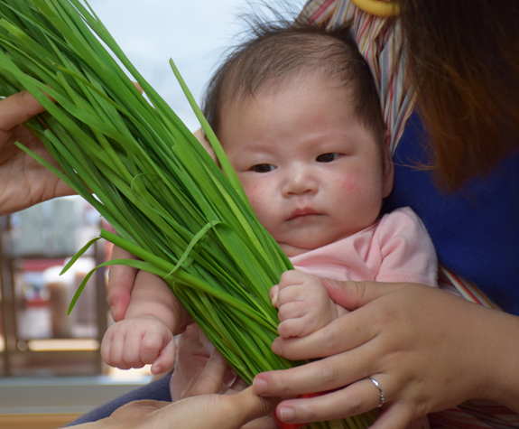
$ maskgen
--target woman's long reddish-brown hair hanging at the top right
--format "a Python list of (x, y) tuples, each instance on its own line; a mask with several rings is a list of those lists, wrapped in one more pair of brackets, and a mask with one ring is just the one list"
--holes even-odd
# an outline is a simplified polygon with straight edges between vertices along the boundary
[(519, 0), (396, 0), (440, 185), (519, 149)]

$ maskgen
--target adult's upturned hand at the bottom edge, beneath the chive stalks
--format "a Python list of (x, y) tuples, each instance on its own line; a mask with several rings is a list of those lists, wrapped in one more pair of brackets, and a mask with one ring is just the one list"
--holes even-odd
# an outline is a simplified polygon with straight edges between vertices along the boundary
[[(270, 429), (262, 423), (270, 415), (277, 400), (256, 396), (252, 387), (228, 395), (216, 395), (221, 388), (227, 362), (213, 353), (208, 366), (191, 387), (189, 397), (174, 404), (158, 401), (136, 401), (118, 408), (109, 417), (80, 429)], [(233, 394), (231, 394), (233, 393)], [(263, 422), (264, 423), (264, 422)]]

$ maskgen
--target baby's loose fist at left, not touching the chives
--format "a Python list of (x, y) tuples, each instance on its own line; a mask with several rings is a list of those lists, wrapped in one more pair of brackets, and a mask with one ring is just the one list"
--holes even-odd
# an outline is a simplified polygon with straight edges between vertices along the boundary
[(111, 367), (121, 369), (153, 364), (152, 374), (160, 374), (175, 362), (175, 340), (168, 327), (154, 316), (125, 319), (108, 329), (101, 357)]

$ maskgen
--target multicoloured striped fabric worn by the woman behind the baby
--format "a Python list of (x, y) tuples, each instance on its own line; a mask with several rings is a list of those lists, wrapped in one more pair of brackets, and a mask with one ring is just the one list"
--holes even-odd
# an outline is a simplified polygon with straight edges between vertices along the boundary
[[(402, 32), (394, 17), (367, 14), (350, 0), (309, 0), (299, 19), (305, 23), (317, 23), (333, 29), (347, 22), (359, 51), (366, 58), (380, 95), (385, 125), (391, 133), (392, 154), (403, 135), (405, 122), (414, 107), (412, 87), (405, 70)], [(474, 284), (440, 266), (440, 288), (458, 293), (468, 301), (502, 311)], [(440, 413), (429, 415), (431, 427), (452, 429), (519, 428), (519, 415), (495, 403), (472, 400)]]

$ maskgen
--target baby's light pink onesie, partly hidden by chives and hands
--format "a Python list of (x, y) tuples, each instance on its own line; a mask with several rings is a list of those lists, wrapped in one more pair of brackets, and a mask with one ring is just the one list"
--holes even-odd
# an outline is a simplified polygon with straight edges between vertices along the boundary
[[(409, 208), (394, 210), (374, 225), (327, 246), (291, 258), (303, 273), (336, 280), (376, 280), (436, 286), (436, 252), (427, 230)], [(175, 402), (205, 368), (214, 346), (196, 324), (181, 334), (171, 377)], [(228, 381), (234, 376), (228, 374)]]

